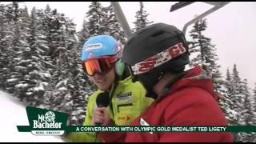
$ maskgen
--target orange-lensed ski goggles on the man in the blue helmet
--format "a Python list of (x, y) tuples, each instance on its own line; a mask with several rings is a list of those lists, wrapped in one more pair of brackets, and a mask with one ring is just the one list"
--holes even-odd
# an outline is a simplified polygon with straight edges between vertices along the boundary
[(114, 55), (102, 58), (92, 58), (82, 62), (82, 69), (89, 76), (94, 76), (96, 73), (106, 74), (113, 68), (115, 61), (116, 57)]

